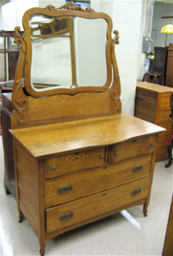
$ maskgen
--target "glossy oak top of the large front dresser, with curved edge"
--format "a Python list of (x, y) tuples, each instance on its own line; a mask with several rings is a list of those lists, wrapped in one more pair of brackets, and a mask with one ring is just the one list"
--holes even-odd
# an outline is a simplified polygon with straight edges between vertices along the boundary
[(164, 130), (136, 117), (117, 114), (10, 131), (32, 156), (42, 159), (155, 135)]

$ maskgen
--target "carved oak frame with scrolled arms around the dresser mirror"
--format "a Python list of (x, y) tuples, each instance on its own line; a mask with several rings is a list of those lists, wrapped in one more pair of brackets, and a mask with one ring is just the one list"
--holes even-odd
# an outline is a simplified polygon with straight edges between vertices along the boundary
[[(105, 19), (108, 22), (108, 30), (106, 33), (106, 66), (107, 66), (107, 80), (103, 86), (100, 87), (76, 87), (72, 89), (68, 88), (55, 88), (50, 90), (36, 91), (31, 86), (31, 58), (32, 58), (32, 44), (31, 44), (31, 28), (29, 25), (30, 19), (36, 15), (46, 15), (47, 17), (81, 17), (86, 19)], [(20, 27), (14, 29), (15, 43), (20, 43), (20, 58), (17, 67), (17, 73), (15, 75), (14, 84), (21, 84), (22, 73), (24, 70), (24, 89), (27, 93), (33, 97), (45, 97), (59, 94), (75, 95), (79, 92), (102, 92), (107, 89), (114, 87), (115, 89), (120, 88), (119, 74), (117, 61), (114, 53), (114, 44), (119, 44), (118, 31), (114, 30), (113, 33), (116, 35), (112, 38), (112, 20), (108, 14), (102, 12), (94, 12), (93, 9), (83, 10), (73, 2), (65, 4), (59, 8), (55, 8), (53, 5), (48, 5), (46, 8), (33, 7), (26, 11), (23, 15), (22, 24), (24, 28), (23, 37), (20, 36)], [(112, 68), (113, 67), (113, 68)], [(20, 72), (19, 72), (20, 70)], [(22, 72), (21, 72), (22, 71)], [(120, 90), (120, 89), (119, 89)]]

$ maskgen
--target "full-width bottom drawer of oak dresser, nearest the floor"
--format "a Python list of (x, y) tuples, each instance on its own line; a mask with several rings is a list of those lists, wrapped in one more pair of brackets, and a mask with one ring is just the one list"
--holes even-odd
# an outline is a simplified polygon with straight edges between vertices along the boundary
[(150, 177), (46, 209), (47, 233), (94, 218), (149, 196)]

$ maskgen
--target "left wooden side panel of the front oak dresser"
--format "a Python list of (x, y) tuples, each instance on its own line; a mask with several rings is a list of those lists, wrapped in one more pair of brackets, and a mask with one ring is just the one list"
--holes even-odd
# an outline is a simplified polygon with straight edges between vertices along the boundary
[(31, 227), (38, 235), (39, 197), (37, 191), (37, 161), (16, 139), (14, 141), (14, 149), (19, 210), (26, 217)]

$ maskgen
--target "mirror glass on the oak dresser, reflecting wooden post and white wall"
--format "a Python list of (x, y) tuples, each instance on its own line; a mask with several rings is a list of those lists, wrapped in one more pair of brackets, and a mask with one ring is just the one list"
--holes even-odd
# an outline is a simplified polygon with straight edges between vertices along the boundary
[(32, 17), (30, 26), (34, 90), (104, 86), (106, 20), (40, 15)]

